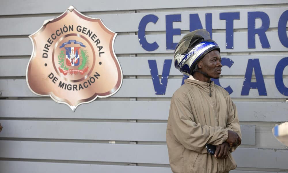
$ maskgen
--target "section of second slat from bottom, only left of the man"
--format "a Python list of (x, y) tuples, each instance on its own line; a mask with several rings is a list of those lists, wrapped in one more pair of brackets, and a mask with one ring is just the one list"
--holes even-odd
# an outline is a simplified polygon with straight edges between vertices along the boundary
[(169, 164), (166, 145), (0, 141), (0, 157)]

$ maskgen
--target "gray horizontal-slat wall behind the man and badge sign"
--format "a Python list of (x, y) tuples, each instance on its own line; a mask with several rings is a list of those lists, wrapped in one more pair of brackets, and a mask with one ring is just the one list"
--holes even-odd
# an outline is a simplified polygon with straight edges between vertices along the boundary
[[(75, 112), (50, 97), (34, 95), (27, 87), (25, 73), (32, 44), (28, 35), (44, 20), (59, 16), (69, 5), (84, 14), (101, 18), (118, 33), (115, 53), (124, 80), (109, 98), (80, 105)], [(170, 99), (181, 86), (182, 75), (171, 65), (165, 95), (156, 95), (147, 60), (156, 60), (161, 77), (166, 50), (168, 14), (181, 14), (181, 36), (189, 32), (189, 14), (199, 14), (205, 28), (205, 13), (212, 13), (213, 40), (221, 56), (234, 61), (223, 67), (220, 83), (231, 86), (243, 135), (233, 156), (237, 169), (231, 172), (287, 172), (288, 148), (272, 134), (275, 124), (288, 121), (288, 96), (274, 81), (277, 63), (288, 49), (278, 39), (278, 20), (288, 10), (287, 1), (1, 1), (0, 6), (0, 172), (157, 172), (170, 173), (165, 133)], [(247, 13), (265, 12), (270, 19), (266, 31), (270, 49), (255, 36), (255, 49), (248, 48)], [(240, 12), (234, 20), (234, 48), (226, 49), (225, 20), (219, 13)], [(138, 40), (140, 20), (147, 14), (159, 19), (146, 27), (148, 42), (155, 51), (144, 50)], [(256, 27), (261, 21), (256, 20)], [(174, 36), (174, 42), (180, 40)], [(259, 59), (266, 96), (257, 89), (241, 95), (249, 59)], [(253, 74), (252, 80), (255, 80)], [(288, 68), (283, 71), (288, 86)]]

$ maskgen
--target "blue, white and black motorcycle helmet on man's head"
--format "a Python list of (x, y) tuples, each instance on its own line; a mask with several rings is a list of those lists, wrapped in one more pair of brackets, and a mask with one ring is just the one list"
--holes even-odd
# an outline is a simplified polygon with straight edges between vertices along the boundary
[(220, 48), (217, 43), (210, 39), (209, 32), (198, 29), (186, 34), (177, 44), (174, 52), (174, 65), (181, 73), (189, 76), (200, 59), (211, 50)]

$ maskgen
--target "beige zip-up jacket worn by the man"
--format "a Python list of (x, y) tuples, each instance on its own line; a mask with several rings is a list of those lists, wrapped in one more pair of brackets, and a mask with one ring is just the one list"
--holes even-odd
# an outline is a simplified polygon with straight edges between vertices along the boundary
[[(228, 129), (241, 137), (236, 106), (229, 93), (214, 82), (185, 80), (171, 99), (166, 131), (172, 171), (221, 173), (235, 169), (237, 165), (231, 153), (227, 159), (216, 159), (205, 148), (207, 143), (225, 142)], [(230, 148), (230, 152), (235, 149)]]

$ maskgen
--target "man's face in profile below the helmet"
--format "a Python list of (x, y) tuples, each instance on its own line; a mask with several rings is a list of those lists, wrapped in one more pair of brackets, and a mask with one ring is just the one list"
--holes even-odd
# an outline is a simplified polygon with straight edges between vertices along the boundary
[(199, 70), (205, 72), (211, 78), (218, 79), (221, 74), (221, 56), (218, 50), (207, 53), (199, 62)]

